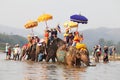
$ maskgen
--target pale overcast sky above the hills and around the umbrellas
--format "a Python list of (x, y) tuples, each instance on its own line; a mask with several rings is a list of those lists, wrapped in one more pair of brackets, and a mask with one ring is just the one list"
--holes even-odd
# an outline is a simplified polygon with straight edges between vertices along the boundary
[[(50, 28), (69, 21), (73, 14), (88, 18), (88, 24), (79, 24), (79, 30), (99, 27), (120, 28), (120, 0), (0, 0), (0, 25), (24, 28), (29, 20), (37, 20), (43, 13), (53, 16), (47, 21)], [(34, 31), (42, 32), (45, 23)]]

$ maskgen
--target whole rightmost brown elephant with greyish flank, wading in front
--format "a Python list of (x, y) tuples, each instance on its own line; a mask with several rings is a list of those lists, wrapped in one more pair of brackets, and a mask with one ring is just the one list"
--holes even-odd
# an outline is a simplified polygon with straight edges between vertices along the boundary
[(58, 62), (67, 64), (68, 66), (81, 66), (81, 62), (89, 66), (89, 53), (87, 49), (79, 50), (74, 46), (68, 47), (68, 51), (61, 49), (57, 50)]

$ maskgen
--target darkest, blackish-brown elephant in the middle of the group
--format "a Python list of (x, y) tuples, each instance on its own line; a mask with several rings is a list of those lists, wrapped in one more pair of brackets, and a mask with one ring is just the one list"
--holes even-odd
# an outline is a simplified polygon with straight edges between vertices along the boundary
[(46, 48), (46, 52), (47, 52), (46, 62), (49, 62), (50, 59), (52, 59), (52, 62), (56, 62), (55, 59), (56, 59), (57, 49), (64, 44), (65, 42), (60, 38), (55, 38), (53, 42), (48, 41), (48, 45)]

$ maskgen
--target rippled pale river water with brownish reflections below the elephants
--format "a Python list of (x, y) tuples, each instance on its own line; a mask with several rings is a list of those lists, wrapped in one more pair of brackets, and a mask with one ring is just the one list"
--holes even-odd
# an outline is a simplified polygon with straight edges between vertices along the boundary
[(99, 63), (92, 67), (5, 60), (0, 53), (0, 80), (120, 80), (120, 62)]

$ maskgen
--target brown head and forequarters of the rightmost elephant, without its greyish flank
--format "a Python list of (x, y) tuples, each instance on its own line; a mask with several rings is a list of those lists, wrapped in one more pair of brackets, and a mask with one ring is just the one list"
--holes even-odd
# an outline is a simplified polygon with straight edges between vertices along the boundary
[(89, 66), (89, 53), (87, 49), (77, 49), (74, 46), (70, 46), (66, 53), (66, 63), (72, 66), (80, 66), (81, 61)]

